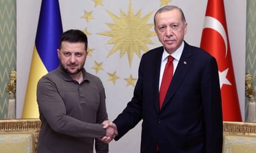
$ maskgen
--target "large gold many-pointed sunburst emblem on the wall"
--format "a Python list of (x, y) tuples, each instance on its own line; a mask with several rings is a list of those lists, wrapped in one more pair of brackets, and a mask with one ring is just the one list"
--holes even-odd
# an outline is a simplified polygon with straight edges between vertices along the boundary
[(128, 15), (120, 10), (120, 18), (115, 14), (110, 14), (115, 24), (106, 23), (111, 31), (97, 33), (99, 35), (112, 37), (106, 44), (115, 44), (108, 53), (107, 58), (120, 50), (120, 59), (127, 53), (129, 66), (132, 65), (133, 53), (141, 58), (140, 50), (147, 52), (149, 48), (146, 44), (155, 44), (149, 37), (156, 36), (150, 29), (154, 24), (147, 24), (153, 11), (141, 18), (141, 10), (134, 15), (132, 2), (130, 1)]

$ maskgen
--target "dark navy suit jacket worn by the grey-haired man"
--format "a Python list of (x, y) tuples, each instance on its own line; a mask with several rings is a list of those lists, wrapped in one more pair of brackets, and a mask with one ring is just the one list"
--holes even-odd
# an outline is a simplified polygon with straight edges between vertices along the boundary
[(217, 63), (185, 42), (181, 59), (159, 110), (163, 47), (141, 57), (132, 100), (113, 121), (121, 138), (141, 119), (141, 153), (222, 152), (222, 110)]

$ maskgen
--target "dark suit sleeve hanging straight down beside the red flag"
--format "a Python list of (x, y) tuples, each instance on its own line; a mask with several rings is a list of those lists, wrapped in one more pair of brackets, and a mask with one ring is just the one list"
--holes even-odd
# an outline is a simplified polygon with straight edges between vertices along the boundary
[(201, 81), (201, 97), (205, 121), (206, 152), (222, 152), (222, 108), (217, 63), (211, 58)]

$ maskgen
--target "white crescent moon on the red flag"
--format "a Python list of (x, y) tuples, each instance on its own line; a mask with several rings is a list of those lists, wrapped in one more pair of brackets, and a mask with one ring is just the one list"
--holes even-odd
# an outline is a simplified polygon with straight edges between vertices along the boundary
[(225, 57), (226, 57), (227, 56), (227, 35), (221, 22), (211, 16), (205, 16), (203, 29), (205, 28), (210, 28), (220, 33), (220, 35), (222, 36), (225, 42), (225, 46), (226, 46)]

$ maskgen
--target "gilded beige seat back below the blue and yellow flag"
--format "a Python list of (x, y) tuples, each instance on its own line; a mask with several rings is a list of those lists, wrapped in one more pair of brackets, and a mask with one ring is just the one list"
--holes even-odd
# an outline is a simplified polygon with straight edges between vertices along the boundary
[(0, 120), (0, 152), (36, 152), (40, 126), (39, 119)]

